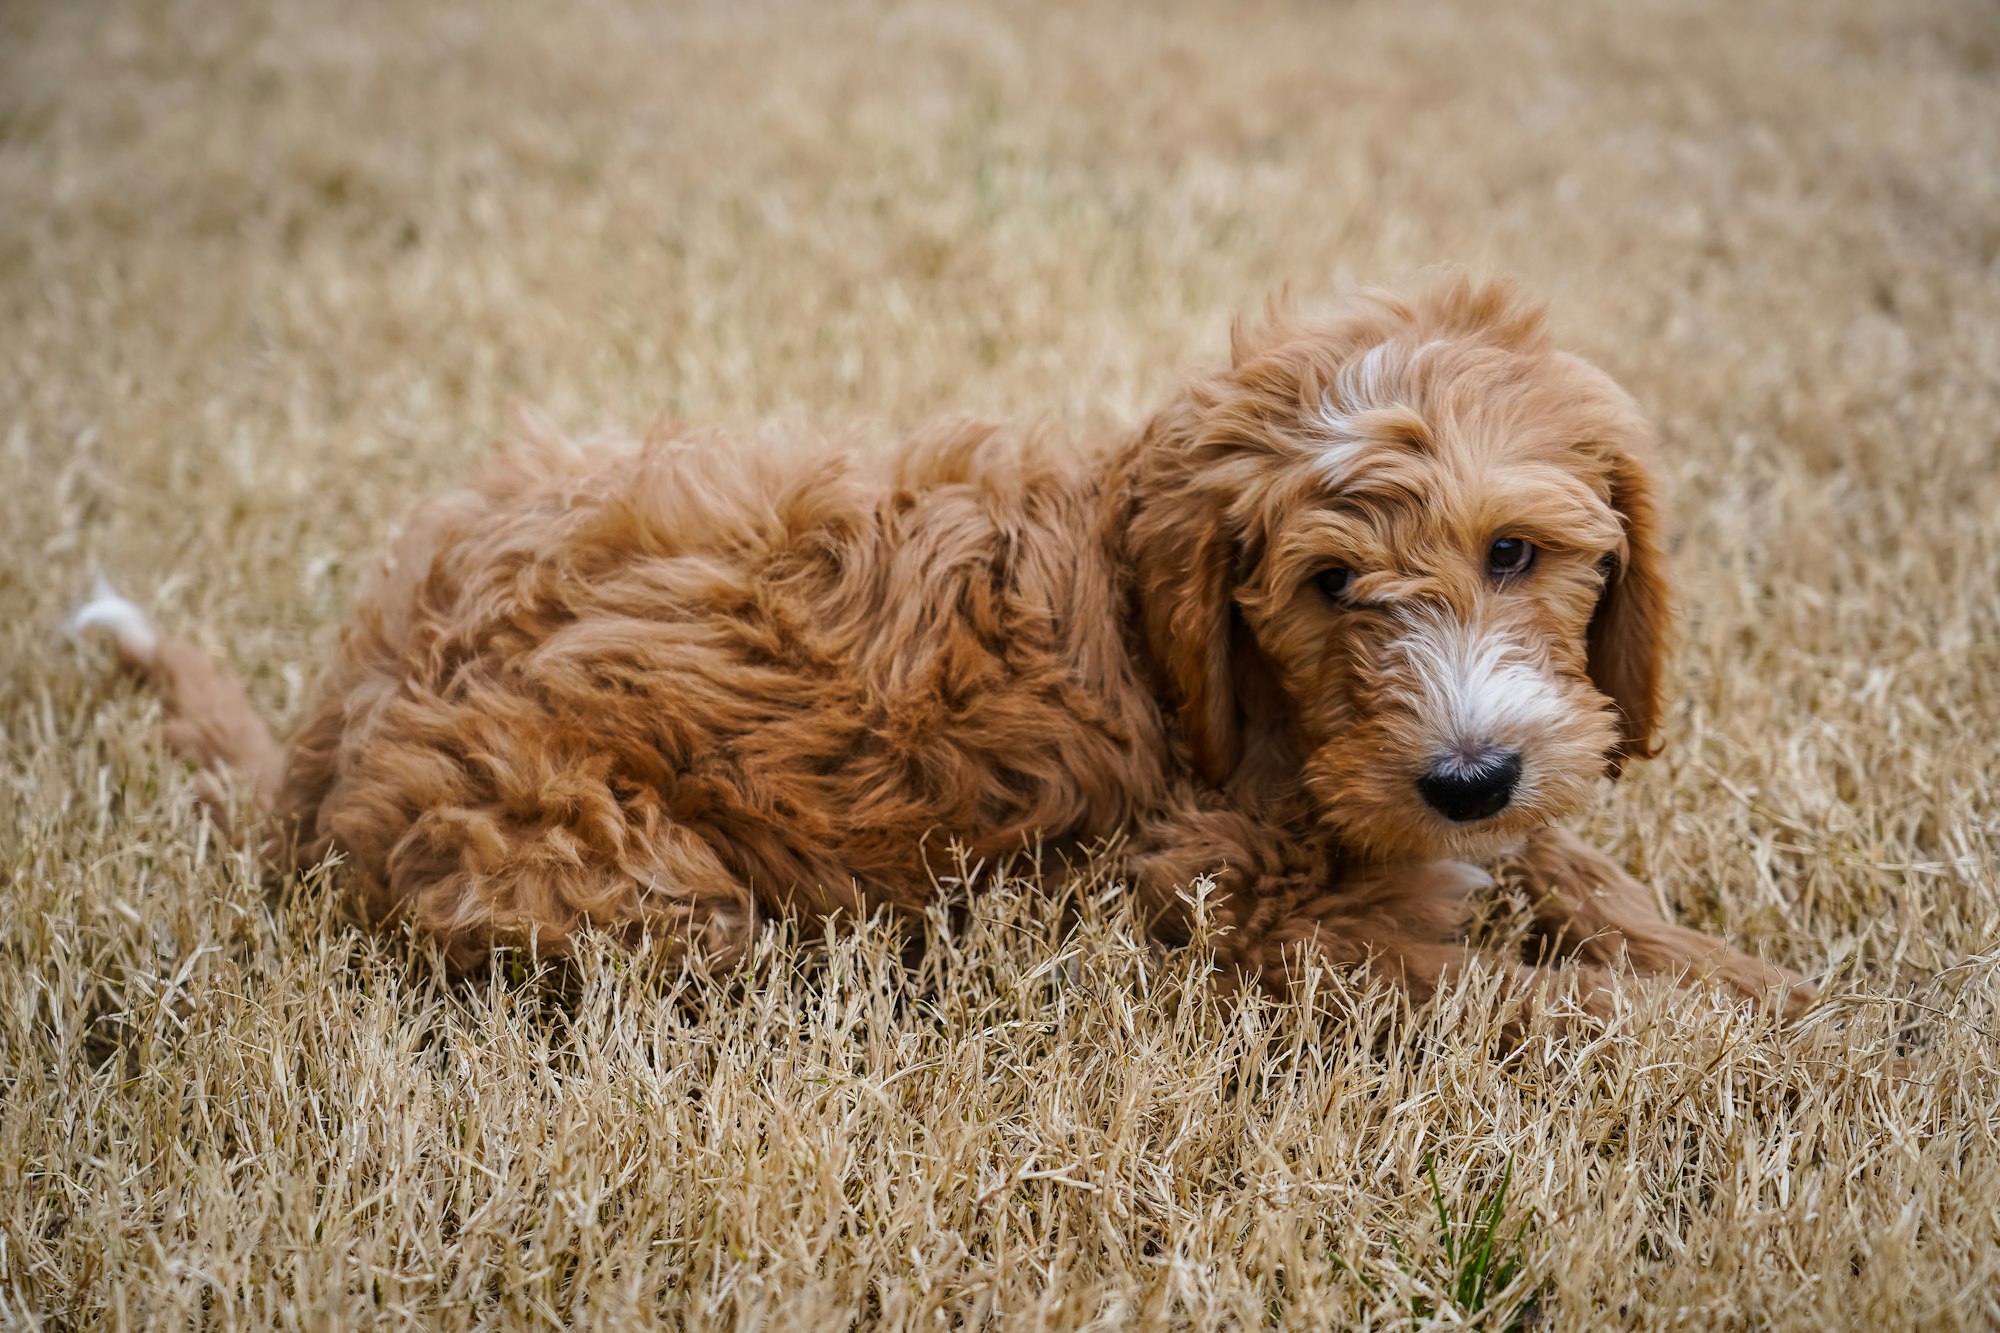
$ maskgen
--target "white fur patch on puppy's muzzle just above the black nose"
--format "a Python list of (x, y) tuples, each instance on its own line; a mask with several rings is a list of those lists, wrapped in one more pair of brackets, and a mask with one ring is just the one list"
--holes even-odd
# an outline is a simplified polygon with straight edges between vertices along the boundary
[(1480, 634), (1438, 612), (1414, 614), (1396, 650), (1434, 719), (1438, 747), (1522, 743), (1562, 711), (1554, 681), (1500, 634)]

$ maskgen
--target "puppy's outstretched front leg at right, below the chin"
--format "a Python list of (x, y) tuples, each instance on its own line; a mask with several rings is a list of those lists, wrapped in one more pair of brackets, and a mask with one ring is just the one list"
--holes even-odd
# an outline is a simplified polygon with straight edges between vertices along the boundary
[(1558, 955), (1718, 985), (1760, 1003), (1776, 999), (1786, 1019), (1814, 1001), (1798, 973), (1668, 921), (1652, 891), (1568, 829), (1530, 837), (1518, 867), (1536, 933)]

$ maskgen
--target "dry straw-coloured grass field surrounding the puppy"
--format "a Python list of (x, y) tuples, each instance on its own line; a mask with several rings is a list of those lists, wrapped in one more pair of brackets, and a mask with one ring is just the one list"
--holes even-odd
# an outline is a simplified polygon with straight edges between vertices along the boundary
[[(60, 634), (104, 570), (288, 721), (518, 410), (1110, 430), (1436, 260), (1662, 426), (1668, 749), (1586, 823), (1796, 1031), (1226, 1009), (1030, 865), (914, 965), (452, 987)], [(0, 532), (0, 1325), (2000, 1323), (1990, 4), (6, 0)]]

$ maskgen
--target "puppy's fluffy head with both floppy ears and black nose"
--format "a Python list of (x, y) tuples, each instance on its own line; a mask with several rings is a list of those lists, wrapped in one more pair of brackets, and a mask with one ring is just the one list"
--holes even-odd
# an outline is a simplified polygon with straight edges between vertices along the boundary
[(1482, 855), (1654, 753), (1650, 430), (1462, 276), (1238, 326), (1134, 454), (1144, 636), (1194, 763), (1358, 853)]

